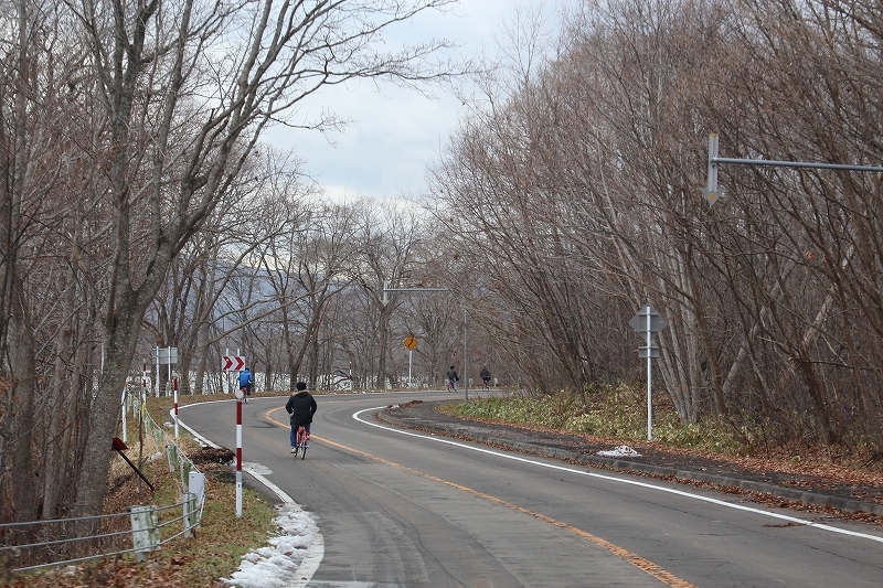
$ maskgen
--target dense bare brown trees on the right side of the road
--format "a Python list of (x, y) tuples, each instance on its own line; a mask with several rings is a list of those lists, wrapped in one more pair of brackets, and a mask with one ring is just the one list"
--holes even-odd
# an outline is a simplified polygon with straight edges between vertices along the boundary
[(522, 41), (483, 79), (434, 196), (528, 379), (634, 378), (650, 302), (683, 423), (881, 455), (880, 174), (721, 165), (723, 199), (701, 191), (712, 132), (728, 158), (881, 164), (881, 8), (586, 2), (553, 60)]

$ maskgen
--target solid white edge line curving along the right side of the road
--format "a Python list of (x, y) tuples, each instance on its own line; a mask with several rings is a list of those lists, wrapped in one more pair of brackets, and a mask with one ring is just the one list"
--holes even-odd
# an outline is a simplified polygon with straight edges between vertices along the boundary
[(737, 511), (746, 511), (746, 512), (749, 512), (749, 513), (760, 514), (760, 515), (764, 515), (764, 516), (769, 516), (769, 517), (778, 518), (778, 520), (781, 520), (781, 521), (788, 521), (788, 522), (791, 522), (791, 523), (798, 523), (798, 524), (801, 524), (801, 525), (816, 527), (816, 528), (819, 528), (819, 530), (822, 530), (822, 531), (828, 531), (828, 532), (831, 532), (831, 533), (840, 533), (842, 535), (850, 535), (852, 537), (860, 537), (860, 538), (863, 538), (863, 539), (871, 539), (871, 541), (875, 541), (875, 542), (879, 542), (879, 543), (883, 543), (883, 537), (879, 537), (876, 535), (869, 535), (866, 533), (858, 533), (855, 531), (849, 531), (849, 530), (845, 530), (845, 528), (838, 528), (838, 527), (831, 526), (831, 525), (823, 525), (821, 523), (813, 523), (812, 521), (806, 521), (804, 518), (798, 518), (796, 516), (790, 516), (790, 515), (787, 515), (787, 514), (779, 514), (779, 513), (774, 513), (774, 512), (769, 512), (769, 511), (762, 511), (760, 509), (754, 509), (752, 506), (745, 506), (743, 504), (734, 504), (732, 502), (726, 502), (726, 501), (723, 501), (723, 500), (712, 499), (710, 496), (702, 496), (700, 494), (693, 494), (691, 492), (684, 492), (683, 490), (677, 490), (677, 489), (673, 489), (673, 488), (664, 488), (664, 487), (661, 487), (661, 485), (650, 484), (650, 483), (647, 483), (647, 482), (640, 482), (638, 480), (626, 480), (626, 479), (620, 479), (620, 478), (614, 478), (611, 475), (604, 475), (602, 473), (594, 473), (594, 472), (588, 472), (588, 471), (576, 470), (574, 468), (568, 468), (568, 467), (565, 467), (565, 466), (556, 466), (554, 463), (543, 463), (541, 461), (535, 461), (535, 460), (528, 459), (528, 458), (522, 458), (522, 457), (519, 457), (519, 456), (512, 456), (512, 455), (509, 455), (509, 453), (501, 453), (501, 452), (494, 451), (492, 449), (485, 449), (482, 447), (472, 447), (472, 446), (468, 446), (468, 445), (465, 445), (465, 443), (459, 443), (457, 441), (451, 441), (450, 439), (445, 439), (445, 438), (442, 438), (442, 437), (432, 437), (432, 436), (427, 436), (427, 435), (421, 435), (418, 432), (412, 432), (412, 431), (402, 430), (402, 429), (394, 429), (392, 427), (386, 427), (386, 426), (380, 425), (377, 423), (371, 423), (369, 420), (364, 420), (363, 418), (360, 417), (360, 415), (362, 415), (363, 413), (370, 413), (370, 411), (373, 411), (373, 410), (382, 410), (384, 408), (386, 408), (386, 406), (377, 406), (375, 408), (365, 408), (364, 410), (359, 410), (358, 413), (353, 413), (352, 418), (354, 418), (355, 420), (358, 420), (359, 423), (362, 423), (364, 425), (370, 425), (370, 426), (376, 427), (379, 429), (384, 429), (384, 430), (397, 432), (400, 435), (409, 435), (412, 437), (419, 437), (421, 439), (428, 439), (430, 441), (436, 441), (436, 442), (445, 443), (445, 445), (451, 445), (451, 446), (459, 447), (459, 448), (462, 448), (462, 449), (468, 449), (470, 451), (478, 451), (478, 452), (481, 452), (481, 453), (489, 453), (491, 456), (497, 456), (497, 457), (500, 457), (500, 458), (503, 458), (503, 459), (511, 459), (513, 461), (521, 461), (523, 463), (531, 463), (533, 466), (540, 466), (541, 468), (549, 468), (551, 470), (565, 471), (565, 472), (575, 473), (575, 474), (578, 474), (578, 475), (587, 475), (589, 478), (597, 478), (599, 480), (607, 480), (607, 481), (610, 481), (610, 482), (618, 482), (618, 483), (623, 483), (623, 484), (637, 485), (637, 487), (640, 487), (640, 488), (646, 488), (646, 489), (649, 489), (649, 490), (656, 490), (656, 491), (659, 491), (659, 492), (668, 492), (669, 494), (677, 494), (679, 496), (684, 496), (684, 498), (688, 498), (688, 499), (700, 500), (700, 501), (703, 501), (703, 502), (709, 502), (709, 503), (712, 503), (712, 504), (716, 504), (719, 506), (725, 506), (727, 509), (735, 509)]

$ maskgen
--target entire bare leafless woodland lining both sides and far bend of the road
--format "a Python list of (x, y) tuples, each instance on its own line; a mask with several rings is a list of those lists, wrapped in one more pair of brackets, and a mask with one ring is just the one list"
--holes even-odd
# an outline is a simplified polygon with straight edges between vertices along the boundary
[(323, 85), (456, 73), (374, 43), (447, 3), (0, 2), (0, 521), (100, 510), (157, 346), (183, 394), (224, 391), (226, 350), (276, 391), (432, 386), (466, 353), (589, 405), (642, 381), (647, 303), (682, 423), (883, 456), (881, 175), (722, 164), (702, 194), (712, 132), (883, 163), (883, 6), (585, 0), (555, 38), (522, 14), (418, 202), (330, 201), (260, 142), (338, 126), (286, 119)]

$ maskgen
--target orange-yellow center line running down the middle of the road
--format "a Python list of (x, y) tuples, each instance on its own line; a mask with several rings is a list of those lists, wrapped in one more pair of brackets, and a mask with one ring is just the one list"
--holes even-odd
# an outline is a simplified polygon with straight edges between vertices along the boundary
[[(268, 420), (270, 420), (272, 423), (275, 423), (276, 425), (279, 425), (280, 427), (286, 427), (287, 425), (285, 425), (283, 423), (279, 423), (278, 420), (275, 420), (274, 418), (272, 418), (269, 416), (269, 414), (273, 413), (274, 410), (277, 410), (277, 409), (268, 410), (264, 416)], [(554, 526), (556, 526), (558, 528), (562, 528), (564, 531), (573, 533), (574, 535), (576, 535), (578, 537), (583, 537), (584, 539), (589, 541), (589, 542), (594, 543), (595, 545), (597, 545), (599, 547), (604, 547), (605, 549), (607, 549), (611, 554), (620, 557), (621, 559), (628, 562), (629, 564), (631, 564), (635, 567), (637, 567), (638, 569), (640, 569), (642, 571), (646, 571), (650, 576), (655, 577), (656, 579), (660, 580), (661, 582), (666, 584), (667, 586), (671, 586), (672, 588), (696, 588), (695, 586), (693, 586), (689, 581), (679, 578), (674, 574), (671, 574), (670, 571), (668, 571), (664, 568), (658, 566), (657, 564), (653, 564), (649, 559), (646, 559), (646, 558), (643, 558), (643, 557), (641, 557), (641, 556), (639, 556), (637, 554), (632, 554), (628, 549), (619, 547), (618, 545), (615, 545), (615, 544), (608, 542), (607, 539), (603, 539), (603, 538), (598, 537), (597, 535), (593, 535), (592, 533), (583, 531), (582, 528), (577, 528), (577, 527), (575, 527), (573, 525), (568, 525), (567, 523), (564, 523), (564, 522), (558, 521), (556, 518), (552, 518), (551, 516), (546, 516), (544, 514), (541, 514), (541, 513), (538, 513), (538, 512), (534, 512), (534, 511), (530, 511), (528, 509), (524, 509), (523, 506), (519, 506), (518, 504), (512, 504), (511, 502), (507, 502), (507, 501), (504, 501), (502, 499), (499, 499), (497, 496), (492, 496), (490, 494), (486, 494), (483, 492), (479, 492), (478, 490), (471, 489), (469, 487), (465, 487), (465, 485), (458, 484), (456, 482), (450, 482), (448, 480), (443, 480), (442, 478), (436, 478), (435, 475), (428, 474), (426, 472), (422, 472), (419, 470), (415, 470), (413, 468), (408, 468), (407, 466), (402, 466), (401, 463), (396, 463), (394, 461), (389, 461), (386, 459), (380, 458), (377, 456), (373, 456), (371, 453), (366, 453), (366, 452), (361, 451), (359, 449), (355, 449), (355, 448), (352, 448), (352, 447), (348, 447), (348, 446), (342, 445), (342, 443), (338, 443), (337, 441), (331, 441), (330, 439), (323, 439), (323, 438), (317, 437), (317, 436), (311, 436), (310, 439), (315, 440), (315, 441), (321, 441), (323, 443), (330, 445), (332, 447), (337, 447), (338, 449), (342, 449), (342, 450), (349, 451), (351, 453), (357, 453), (359, 456), (362, 456), (362, 457), (368, 458), (368, 459), (372, 459), (372, 460), (377, 461), (380, 463), (383, 463), (385, 466), (390, 466), (392, 468), (396, 468), (396, 469), (402, 470), (402, 471), (407, 472), (407, 473), (413, 473), (415, 475), (419, 475), (421, 478), (425, 478), (427, 480), (432, 480), (433, 482), (437, 482), (439, 484), (445, 484), (445, 485), (448, 485), (450, 488), (455, 488), (457, 490), (460, 490), (460, 491), (466, 492), (468, 494), (471, 494), (474, 496), (487, 500), (489, 502), (492, 502), (494, 504), (499, 504), (501, 506), (507, 506), (507, 507), (512, 509), (514, 511), (518, 511), (520, 513), (533, 516), (534, 518), (539, 518), (540, 521), (543, 521), (543, 522), (549, 523), (551, 525), (554, 525)]]

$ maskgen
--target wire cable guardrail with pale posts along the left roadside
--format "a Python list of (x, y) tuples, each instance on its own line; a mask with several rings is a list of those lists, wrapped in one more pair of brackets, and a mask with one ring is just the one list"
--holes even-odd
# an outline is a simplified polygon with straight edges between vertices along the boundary
[[(149, 424), (148, 429), (161, 445), (168, 436), (147, 411), (145, 424)], [(181, 474), (181, 502), (134, 505), (126, 513), (0, 524), (0, 570), (20, 573), (124, 554), (143, 562), (163, 544), (180, 536), (194, 536), (205, 505), (205, 475), (185, 457), (181, 459), (183, 453), (174, 442), (166, 443), (166, 455), (169, 472), (179, 470)], [(180, 531), (162, 537), (163, 532), (178, 524)], [(131, 537), (131, 547), (124, 548), (127, 536)]]

